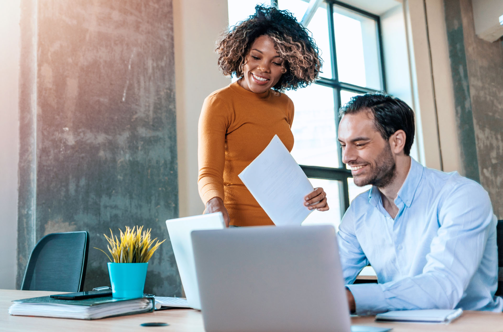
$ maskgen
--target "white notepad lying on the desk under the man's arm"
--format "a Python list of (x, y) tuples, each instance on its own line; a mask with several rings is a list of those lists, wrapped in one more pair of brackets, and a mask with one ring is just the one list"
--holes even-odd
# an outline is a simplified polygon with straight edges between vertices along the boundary
[(396, 310), (377, 314), (376, 321), (450, 323), (462, 313), (462, 309)]

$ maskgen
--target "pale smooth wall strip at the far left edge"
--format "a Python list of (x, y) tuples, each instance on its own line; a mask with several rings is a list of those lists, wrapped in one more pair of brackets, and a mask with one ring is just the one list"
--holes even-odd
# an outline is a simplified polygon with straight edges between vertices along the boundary
[(20, 0), (0, 2), (0, 289), (14, 289), (16, 276), (19, 7)]

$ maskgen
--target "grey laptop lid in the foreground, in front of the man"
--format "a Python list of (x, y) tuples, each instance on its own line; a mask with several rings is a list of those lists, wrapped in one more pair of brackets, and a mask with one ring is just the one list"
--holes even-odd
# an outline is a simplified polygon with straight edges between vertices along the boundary
[(333, 226), (192, 233), (206, 331), (350, 331)]

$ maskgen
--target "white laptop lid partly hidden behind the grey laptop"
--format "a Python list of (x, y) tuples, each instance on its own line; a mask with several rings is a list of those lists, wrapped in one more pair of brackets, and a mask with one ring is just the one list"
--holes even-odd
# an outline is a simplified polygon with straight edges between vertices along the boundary
[(222, 213), (208, 213), (189, 217), (166, 220), (167, 233), (170, 235), (173, 253), (177, 261), (180, 279), (187, 296), (187, 303), (194, 309), (201, 310), (199, 290), (192, 251), (191, 232), (194, 230), (221, 230), (225, 227)]

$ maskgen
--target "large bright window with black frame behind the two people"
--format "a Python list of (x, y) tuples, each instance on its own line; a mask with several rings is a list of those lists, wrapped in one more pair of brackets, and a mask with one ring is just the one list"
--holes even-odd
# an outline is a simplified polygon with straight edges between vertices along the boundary
[[(256, 4), (229, 0), (230, 24), (253, 14)], [(273, 0), (272, 4), (290, 11), (298, 21), (309, 8), (304, 0)], [(342, 162), (337, 112), (354, 95), (386, 90), (380, 21), (338, 1), (325, 0), (312, 11), (304, 24), (321, 51), (323, 72), (316, 83), (286, 92), (295, 105), (292, 155), (312, 185), (325, 189), (330, 206), (327, 212), (314, 211), (304, 223), (338, 226), (350, 201), (370, 186), (357, 187)]]

